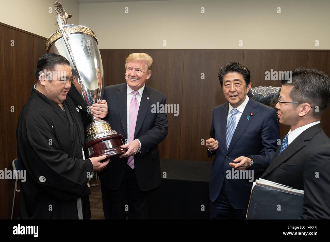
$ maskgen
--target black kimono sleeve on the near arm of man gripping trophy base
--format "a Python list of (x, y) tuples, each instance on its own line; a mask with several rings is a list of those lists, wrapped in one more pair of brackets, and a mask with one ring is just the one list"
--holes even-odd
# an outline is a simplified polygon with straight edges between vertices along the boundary
[(93, 166), (89, 159), (62, 151), (68, 148), (68, 141), (60, 139), (60, 125), (41, 112), (28, 115), (22, 161), (43, 193), (53, 200), (68, 201), (90, 194), (87, 182)]

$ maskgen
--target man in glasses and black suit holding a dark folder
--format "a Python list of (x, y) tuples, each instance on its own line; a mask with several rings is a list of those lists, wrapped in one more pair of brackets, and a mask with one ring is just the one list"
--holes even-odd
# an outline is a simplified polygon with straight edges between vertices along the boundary
[(330, 103), (330, 79), (319, 70), (296, 68), (292, 82), (281, 82), (276, 108), (290, 131), (261, 178), (304, 190), (299, 219), (330, 219), (330, 139), (320, 123)]

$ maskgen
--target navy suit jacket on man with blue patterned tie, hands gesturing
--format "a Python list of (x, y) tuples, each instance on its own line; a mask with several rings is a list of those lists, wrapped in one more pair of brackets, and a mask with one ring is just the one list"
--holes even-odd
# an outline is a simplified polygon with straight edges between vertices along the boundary
[[(250, 98), (227, 151), (228, 109), (228, 102), (213, 109), (210, 135), (219, 142), (219, 147), (214, 152), (208, 151), (209, 157), (215, 154), (209, 196), (214, 202), (225, 180), (225, 189), (230, 204), (236, 209), (247, 209), (252, 182), (249, 179), (226, 179), (227, 171), (232, 171), (229, 163), (240, 156), (252, 156), (255, 162), (253, 178), (254, 180), (259, 178), (275, 154), (277, 142), (280, 139), (280, 128), (275, 109)], [(250, 116), (250, 113), (253, 113), (253, 116)], [(249, 119), (247, 119), (248, 115)]]

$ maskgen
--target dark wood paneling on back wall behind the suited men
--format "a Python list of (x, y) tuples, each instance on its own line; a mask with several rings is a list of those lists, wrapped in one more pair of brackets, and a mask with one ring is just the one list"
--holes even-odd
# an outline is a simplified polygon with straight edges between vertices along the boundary
[[(179, 104), (179, 116), (168, 114), (168, 136), (159, 145), (163, 159), (205, 160), (202, 139), (210, 137), (212, 110), (226, 102), (218, 79), (219, 68), (230, 61), (244, 64), (252, 87), (280, 87), (280, 81), (265, 81), (265, 71), (288, 71), (314, 67), (330, 75), (330, 51), (309, 50), (101, 50), (105, 85), (125, 82), (125, 57), (145, 52), (154, 59), (147, 85), (164, 93), (168, 104)], [(108, 66), (109, 65), (109, 66)], [(204, 73), (205, 79), (201, 79)], [(330, 137), (330, 107), (322, 126)], [(281, 136), (289, 126), (280, 125)]]

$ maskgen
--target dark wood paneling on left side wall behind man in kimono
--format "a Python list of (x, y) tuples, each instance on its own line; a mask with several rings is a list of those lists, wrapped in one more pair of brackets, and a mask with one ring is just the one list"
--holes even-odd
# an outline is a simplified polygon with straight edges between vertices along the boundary
[[(34, 72), (39, 57), (46, 53), (45, 44), (41, 36), (0, 23), (0, 170), (13, 170), (18, 117), (36, 83)], [(11, 217), (14, 187), (15, 180), (0, 179), (0, 219)], [(16, 193), (13, 218), (19, 216), (18, 199)]]

